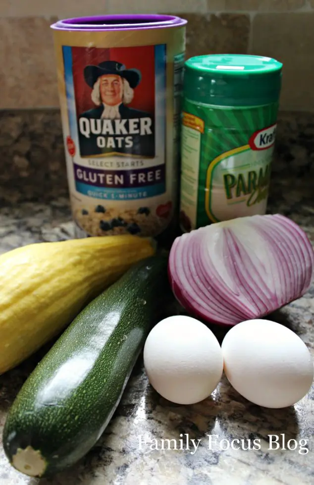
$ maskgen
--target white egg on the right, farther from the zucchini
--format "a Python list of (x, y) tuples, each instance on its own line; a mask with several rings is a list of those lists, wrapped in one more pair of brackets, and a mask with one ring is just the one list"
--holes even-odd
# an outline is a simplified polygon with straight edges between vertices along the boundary
[(301, 338), (269, 320), (247, 320), (223, 339), (224, 372), (246, 399), (267, 408), (291, 406), (311, 388), (314, 366)]

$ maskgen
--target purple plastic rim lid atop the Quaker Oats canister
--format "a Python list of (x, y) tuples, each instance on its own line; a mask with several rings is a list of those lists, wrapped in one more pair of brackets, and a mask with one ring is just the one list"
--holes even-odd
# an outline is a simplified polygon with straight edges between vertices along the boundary
[(95, 17), (75, 17), (59, 20), (52, 24), (52, 29), (75, 31), (115, 31), (146, 30), (165, 27), (179, 27), (187, 20), (174, 15), (100, 15)]

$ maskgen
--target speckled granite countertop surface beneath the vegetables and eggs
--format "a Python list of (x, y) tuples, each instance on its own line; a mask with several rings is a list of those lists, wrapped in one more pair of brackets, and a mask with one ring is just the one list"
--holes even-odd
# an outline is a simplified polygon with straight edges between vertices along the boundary
[[(313, 182), (305, 178), (272, 180), (268, 212), (295, 220), (314, 243)], [(0, 253), (32, 242), (73, 237), (66, 196), (53, 195), (45, 203), (14, 201), (0, 209)], [(298, 301), (273, 315), (296, 331), (314, 355), (314, 286)], [(221, 335), (220, 335), (221, 337)], [(23, 381), (45, 348), (16, 369), (0, 377), (0, 432), (7, 410)], [(269, 450), (268, 435), (296, 439), (295, 451)], [(187, 450), (151, 450), (139, 436), (157, 439), (201, 439), (194, 454)], [(209, 449), (207, 434), (226, 438), (260, 439), (260, 450)], [(314, 483), (314, 386), (294, 407), (269, 410), (249, 403), (223, 377), (207, 400), (175, 405), (161, 398), (148, 384), (141, 358), (128, 382), (109, 426), (91, 452), (75, 467), (51, 480), (36, 480), (16, 472), (0, 445), (1, 485), (310, 485)], [(308, 453), (299, 453), (300, 440), (308, 440)], [(179, 441), (178, 441), (179, 443)], [(225, 442), (224, 442), (225, 443)]]

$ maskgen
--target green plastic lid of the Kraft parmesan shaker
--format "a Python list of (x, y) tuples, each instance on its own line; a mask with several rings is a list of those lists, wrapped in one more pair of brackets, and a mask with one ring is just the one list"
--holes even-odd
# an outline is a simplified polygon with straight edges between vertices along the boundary
[(185, 98), (217, 106), (261, 106), (278, 101), (282, 63), (248, 54), (190, 57), (184, 68)]

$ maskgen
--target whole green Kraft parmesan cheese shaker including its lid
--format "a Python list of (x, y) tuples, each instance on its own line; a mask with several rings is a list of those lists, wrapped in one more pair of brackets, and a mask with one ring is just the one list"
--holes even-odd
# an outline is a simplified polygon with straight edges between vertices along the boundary
[(257, 55), (185, 63), (180, 226), (265, 214), (282, 64)]

